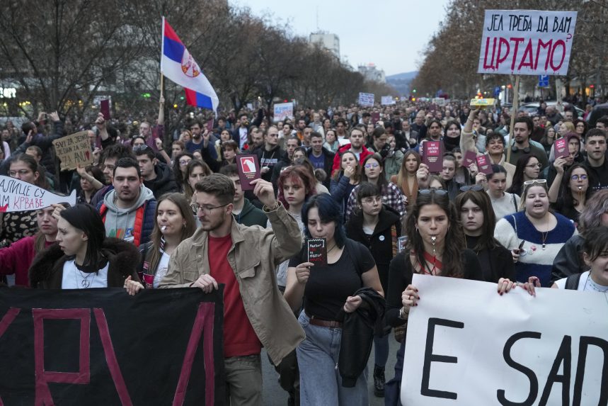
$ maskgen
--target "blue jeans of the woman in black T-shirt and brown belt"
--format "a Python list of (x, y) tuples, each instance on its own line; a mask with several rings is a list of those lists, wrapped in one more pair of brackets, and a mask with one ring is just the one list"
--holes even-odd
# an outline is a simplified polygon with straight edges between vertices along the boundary
[(300, 405), (367, 406), (367, 368), (354, 388), (344, 388), (338, 371), (342, 329), (314, 326), (301, 312), (298, 321), (306, 339), (297, 347)]

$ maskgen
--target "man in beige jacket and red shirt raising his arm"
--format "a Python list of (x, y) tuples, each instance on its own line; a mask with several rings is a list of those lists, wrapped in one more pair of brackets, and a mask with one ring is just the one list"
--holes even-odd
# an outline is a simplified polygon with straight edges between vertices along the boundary
[(251, 181), (271, 228), (239, 225), (232, 217), (234, 182), (212, 174), (196, 184), (199, 229), (171, 254), (160, 288), (198, 287), (205, 293), (224, 283), (226, 405), (261, 405), (264, 346), (278, 365), (304, 339), (277, 288), (275, 269), (302, 247), (302, 232), (273, 185)]

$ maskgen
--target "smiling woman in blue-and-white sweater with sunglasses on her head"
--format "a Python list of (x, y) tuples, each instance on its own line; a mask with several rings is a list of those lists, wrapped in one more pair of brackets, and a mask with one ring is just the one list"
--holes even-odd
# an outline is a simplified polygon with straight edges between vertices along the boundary
[(549, 210), (549, 188), (545, 179), (524, 182), (522, 211), (498, 220), (494, 237), (510, 249), (517, 281), (534, 276), (541, 286), (551, 283), (551, 266), (559, 250), (578, 234), (571, 220)]

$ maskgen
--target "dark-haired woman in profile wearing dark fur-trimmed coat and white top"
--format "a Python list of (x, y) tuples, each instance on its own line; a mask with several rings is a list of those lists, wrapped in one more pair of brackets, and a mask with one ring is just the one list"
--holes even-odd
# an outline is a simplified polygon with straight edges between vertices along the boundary
[(139, 252), (130, 242), (105, 237), (101, 215), (91, 205), (56, 209), (57, 245), (36, 257), (30, 268), (32, 288), (88, 289), (125, 286), (139, 281)]

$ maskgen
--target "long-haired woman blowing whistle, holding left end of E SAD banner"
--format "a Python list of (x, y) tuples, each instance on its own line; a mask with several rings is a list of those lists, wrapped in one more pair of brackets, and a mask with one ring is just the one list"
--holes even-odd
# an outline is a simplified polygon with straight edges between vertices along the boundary
[[(483, 280), (477, 256), (466, 249), (459, 216), (447, 191), (418, 192), (406, 218), (406, 235), (406, 249), (389, 266), (386, 322), (393, 327), (406, 324), (411, 306), (417, 305), (418, 288), (412, 285), (413, 274)], [(403, 340), (397, 352), (395, 377), (385, 386), (386, 405), (396, 405), (401, 393), (405, 344)]]

